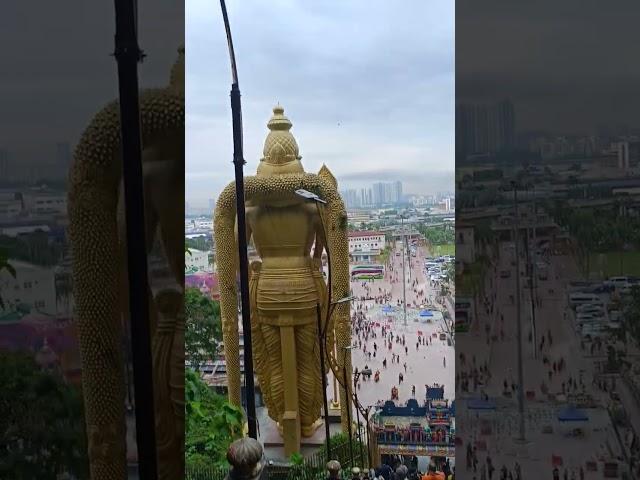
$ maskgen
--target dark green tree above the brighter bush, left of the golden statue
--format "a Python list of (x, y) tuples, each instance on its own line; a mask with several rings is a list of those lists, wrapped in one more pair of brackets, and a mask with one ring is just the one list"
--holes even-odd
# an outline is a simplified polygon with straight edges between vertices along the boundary
[(184, 296), (186, 331), (184, 349), (194, 370), (215, 356), (222, 342), (220, 302), (212, 300), (197, 288), (187, 288)]

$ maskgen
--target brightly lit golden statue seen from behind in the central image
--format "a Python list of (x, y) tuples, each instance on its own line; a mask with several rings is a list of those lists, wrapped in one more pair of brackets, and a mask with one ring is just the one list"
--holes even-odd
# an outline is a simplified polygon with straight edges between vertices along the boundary
[[(300, 451), (300, 436), (311, 436), (321, 425), (322, 376), (316, 304), (322, 324), (330, 307), (322, 274), (322, 252), (327, 248), (331, 267), (331, 296), (335, 301), (349, 294), (347, 220), (335, 178), (326, 167), (305, 173), (298, 145), (289, 132), (291, 122), (282, 107), (273, 109), (264, 157), (257, 175), (245, 179), (247, 240), (252, 240), (260, 261), (251, 264), (251, 334), (255, 372), (271, 419), (284, 437), (285, 454)], [(327, 203), (318, 206), (297, 195), (298, 189), (316, 193)], [(214, 232), (220, 280), (229, 400), (240, 406), (240, 357), (236, 272), (235, 183), (218, 199)], [(312, 247), (313, 255), (312, 255)], [(327, 350), (335, 369), (342, 362), (351, 371), (349, 304), (331, 308)], [(323, 327), (324, 328), (324, 327)], [(345, 397), (344, 390), (341, 391)], [(343, 401), (343, 428), (346, 408)]]

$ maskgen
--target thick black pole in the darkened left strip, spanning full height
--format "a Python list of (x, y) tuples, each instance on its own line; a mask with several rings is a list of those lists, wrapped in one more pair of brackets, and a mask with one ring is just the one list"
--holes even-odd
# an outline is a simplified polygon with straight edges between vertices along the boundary
[(115, 14), (114, 56), (118, 63), (120, 97), (138, 475), (141, 480), (155, 480), (158, 478), (158, 466), (138, 99), (138, 62), (142, 60), (143, 54), (138, 47), (135, 2), (115, 0)]

